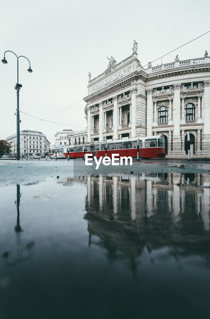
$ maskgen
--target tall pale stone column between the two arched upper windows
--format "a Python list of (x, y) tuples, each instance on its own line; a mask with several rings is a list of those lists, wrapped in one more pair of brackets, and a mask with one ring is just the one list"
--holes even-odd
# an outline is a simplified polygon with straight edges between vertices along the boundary
[(173, 84), (174, 86), (174, 135), (173, 135), (173, 155), (179, 156), (181, 151), (181, 137), (180, 137), (180, 87), (181, 83)]

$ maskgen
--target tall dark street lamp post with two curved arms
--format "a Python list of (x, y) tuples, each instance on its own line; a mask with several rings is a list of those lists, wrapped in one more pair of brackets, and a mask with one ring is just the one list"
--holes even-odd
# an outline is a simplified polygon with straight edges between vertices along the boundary
[[(5, 51), (4, 52), (4, 57), (2, 59), (2, 63), (3, 64), (7, 64), (7, 60), (5, 59), (5, 53), (6, 52), (12, 52), (12, 51)], [(14, 52), (12, 52), (14, 53)], [(19, 91), (20, 91), (20, 88), (22, 87), (22, 84), (19, 84), (18, 83), (18, 59), (21, 57), (21, 56), (17, 56), (15, 53), (14, 55), (17, 57), (17, 83), (16, 85), (14, 86), (14, 88), (17, 90), (17, 160), (20, 160), (20, 113), (19, 113)], [(31, 69), (31, 63), (29, 61), (29, 59), (26, 57), (26, 56), (22, 56), (24, 58), (26, 58), (29, 62), (29, 68), (28, 68), (28, 72), (29, 73), (32, 73), (32, 69)]]

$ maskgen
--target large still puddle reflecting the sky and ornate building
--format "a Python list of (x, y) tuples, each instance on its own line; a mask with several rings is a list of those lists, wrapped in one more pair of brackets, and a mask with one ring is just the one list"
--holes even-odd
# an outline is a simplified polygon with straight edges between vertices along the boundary
[(206, 317), (209, 181), (69, 178), (20, 185), (19, 205), (18, 186), (1, 188), (2, 318)]

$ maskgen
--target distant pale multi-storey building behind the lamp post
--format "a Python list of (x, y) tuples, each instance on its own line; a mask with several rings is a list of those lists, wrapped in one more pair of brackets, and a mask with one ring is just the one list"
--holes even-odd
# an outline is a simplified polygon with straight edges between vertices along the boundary
[[(17, 134), (13, 134), (5, 139), (11, 143), (10, 156), (17, 155)], [(42, 153), (46, 156), (49, 152), (50, 142), (45, 134), (39, 131), (23, 130), (20, 131), (20, 156), (25, 157), (26, 154)]]

